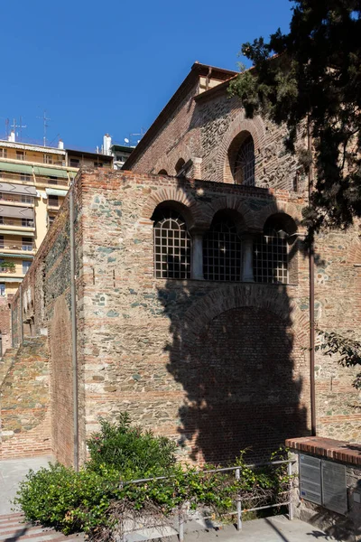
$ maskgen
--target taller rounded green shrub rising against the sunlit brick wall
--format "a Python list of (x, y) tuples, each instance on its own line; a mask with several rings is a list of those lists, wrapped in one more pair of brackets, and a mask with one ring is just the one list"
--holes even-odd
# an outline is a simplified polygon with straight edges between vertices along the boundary
[(108, 465), (128, 480), (170, 472), (176, 463), (176, 444), (130, 425), (126, 412), (114, 424), (100, 418), (100, 432), (92, 435), (87, 444), (88, 469), (99, 472), (102, 465)]

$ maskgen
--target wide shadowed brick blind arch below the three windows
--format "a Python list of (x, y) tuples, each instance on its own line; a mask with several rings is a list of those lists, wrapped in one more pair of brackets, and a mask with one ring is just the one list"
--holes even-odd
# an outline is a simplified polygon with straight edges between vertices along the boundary
[(231, 309), (255, 307), (279, 316), (295, 334), (299, 344), (308, 347), (308, 316), (288, 297), (287, 292), (279, 288), (264, 285), (227, 285), (205, 295), (192, 304), (184, 315), (184, 328), (187, 336), (184, 343), (194, 340), (207, 323), (219, 314)]

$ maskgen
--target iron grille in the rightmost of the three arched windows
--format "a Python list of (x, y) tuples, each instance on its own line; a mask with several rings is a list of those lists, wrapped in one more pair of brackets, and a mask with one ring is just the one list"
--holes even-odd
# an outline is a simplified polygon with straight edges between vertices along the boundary
[(254, 245), (255, 282), (287, 284), (288, 250), (285, 234), (267, 229)]

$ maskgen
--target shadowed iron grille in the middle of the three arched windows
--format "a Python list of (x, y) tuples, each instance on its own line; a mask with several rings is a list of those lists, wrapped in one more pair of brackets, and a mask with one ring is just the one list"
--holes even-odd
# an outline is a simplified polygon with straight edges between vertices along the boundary
[(215, 220), (203, 239), (206, 280), (242, 280), (242, 242), (233, 220)]

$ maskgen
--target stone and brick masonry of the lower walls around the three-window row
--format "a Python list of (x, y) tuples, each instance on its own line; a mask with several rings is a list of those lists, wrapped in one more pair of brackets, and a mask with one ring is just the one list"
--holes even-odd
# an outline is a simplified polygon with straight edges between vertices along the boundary
[[(190, 233), (207, 229), (218, 210), (238, 213), (255, 233), (275, 213), (299, 222), (301, 195), (90, 170), (79, 173), (72, 190), (81, 460), (98, 416), (119, 410), (176, 439), (180, 455), (199, 463), (232, 459), (245, 447), (264, 457), (287, 437), (309, 435), (309, 277), (301, 240), (292, 285), (164, 280), (153, 273), (152, 216), (162, 202), (183, 210)], [(358, 237), (323, 236), (317, 250), (319, 327), (358, 332)], [(15, 345), (23, 322), (48, 336), (51, 448), (70, 464), (69, 197), (14, 297)], [(352, 370), (318, 354), (316, 371), (319, 433), (360, 439)]]

